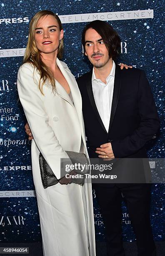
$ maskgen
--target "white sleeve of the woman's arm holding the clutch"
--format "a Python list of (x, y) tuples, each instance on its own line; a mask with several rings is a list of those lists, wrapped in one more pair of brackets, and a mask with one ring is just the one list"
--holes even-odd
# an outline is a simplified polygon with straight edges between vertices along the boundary
[[(42, 97), (45, 96), (42, 96), (37, 83), (34, 82), (32, 67), (25, 65), (20, 67), (17, 87), (35, 144), (56, 178), (60, 179), (60, 158), (68, 159), (69, 157), (49, 125), (49, 118), (42, 100)], [(71, 161), (70, 164), (72, 164)]]

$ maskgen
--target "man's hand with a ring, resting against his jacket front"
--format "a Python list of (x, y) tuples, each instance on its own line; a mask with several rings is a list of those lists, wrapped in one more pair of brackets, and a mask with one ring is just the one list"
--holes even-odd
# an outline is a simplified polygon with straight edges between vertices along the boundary
[(100, 148), (96, 148), (95, 151), (97, 154), (99, 154), (100, 158), (103, 158), (105, 161), (109, 161), (111, 159), (114, 159), (115, 156), (112, 151), (111, 143), (105, 143), (100, 146)]

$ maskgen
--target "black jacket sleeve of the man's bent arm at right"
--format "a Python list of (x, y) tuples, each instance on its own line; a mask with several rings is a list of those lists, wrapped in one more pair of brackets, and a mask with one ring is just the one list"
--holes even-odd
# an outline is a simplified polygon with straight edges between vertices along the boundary
[(135, 154), (145, 146), (160, 128), (160, 120), (145, 72), (141, 70), (138, 88), (138, 108), (140, 124), (138, 128), (122, 140), (112, 142), (115, 158)]

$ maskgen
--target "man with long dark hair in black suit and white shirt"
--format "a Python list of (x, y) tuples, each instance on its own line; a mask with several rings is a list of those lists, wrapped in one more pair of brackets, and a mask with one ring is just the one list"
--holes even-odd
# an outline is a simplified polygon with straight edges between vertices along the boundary
[[(90, 158), (147, 158), (145, 143), (158, 131), (160, 121), (145, 72), (121, 70), (115, 65), (120, 37), (104, 21), (87, 24), (82, 32), (82, 45), (93, 65), (90, 72), (77, 79)], [(100, 183), (94, 187), (105, 220), (107, 256), (125, 255), (121, 193), (133, 223), (138, 256), (155, 256), (150, 184)]]

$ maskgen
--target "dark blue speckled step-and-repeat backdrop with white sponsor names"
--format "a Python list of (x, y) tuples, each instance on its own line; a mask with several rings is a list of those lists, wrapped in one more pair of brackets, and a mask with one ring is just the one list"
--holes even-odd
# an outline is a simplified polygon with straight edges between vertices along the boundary
[[(40, 221), (32, 179), (31, 143), (18, 100), (17, 72), (23, 61), (32, 16), (39, 10), (59, 15), (65, 31), (65, 54), (75, 77), (91, 69), (82, 55), (81, 33), (87, 22), (105, 20), (120, 35), (124, 62), (144, 69), (161, 119), (160, 135), (148, 143), (148, 156), (163, 158), (163, 6), (151, 0), (1, 0), (0, 1), (0, 241), (41, 241)], [(152, 185), (151, 222), (155, 241), (163, 241), (164, 184)], [(105, 227), (93, 190), (96, 240), (104, 241)], [(113, 220), (112, 220), (113, 222)], [(134, 241), (123, 202), (124, 241)]]

